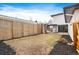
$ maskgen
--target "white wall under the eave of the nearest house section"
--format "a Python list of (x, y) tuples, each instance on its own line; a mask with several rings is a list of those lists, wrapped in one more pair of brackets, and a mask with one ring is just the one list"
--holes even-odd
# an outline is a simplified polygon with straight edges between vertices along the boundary
[(68, 24), (68, 33), (69, 33), (70, 37), (72, 38), (72, 40), (73, 40), (73, 25), (72, 24), (76, 21), (79, 21), (79, 9), (75, 10), (73, 17), (72, 17), (70, 23)]

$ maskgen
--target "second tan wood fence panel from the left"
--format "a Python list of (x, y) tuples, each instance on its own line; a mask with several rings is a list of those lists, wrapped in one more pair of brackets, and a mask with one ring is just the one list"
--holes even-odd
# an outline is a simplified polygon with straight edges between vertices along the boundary
[(23, 36), (22, 23), (13, 21), (13, 38), (18, 38)]

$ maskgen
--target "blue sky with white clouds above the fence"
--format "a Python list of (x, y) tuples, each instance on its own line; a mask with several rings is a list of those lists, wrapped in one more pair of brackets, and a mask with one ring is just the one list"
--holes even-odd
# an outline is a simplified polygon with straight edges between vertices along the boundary
[(72, 3), (0, 3), (0, 14), (47, 23), (50, 15), (63, 13)]

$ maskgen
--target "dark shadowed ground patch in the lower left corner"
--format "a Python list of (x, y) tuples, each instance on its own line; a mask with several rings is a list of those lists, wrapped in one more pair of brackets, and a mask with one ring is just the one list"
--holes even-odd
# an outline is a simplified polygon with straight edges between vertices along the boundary
[(16, 51), (13, 48), (11, 48), (3, 41), (0, 42), (0, 55), (15, 55), (15, 54)]

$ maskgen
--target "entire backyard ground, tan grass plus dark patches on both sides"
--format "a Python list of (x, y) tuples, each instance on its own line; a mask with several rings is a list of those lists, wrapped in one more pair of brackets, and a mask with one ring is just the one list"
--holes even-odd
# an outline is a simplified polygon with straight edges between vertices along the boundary
[[(70, 55), (77, 54), (73, 46), (62, 43), (62, 35), (40, 34), (0, 42), (1, 55)], [(63, 36), (65, 38), (65, 36)]]

